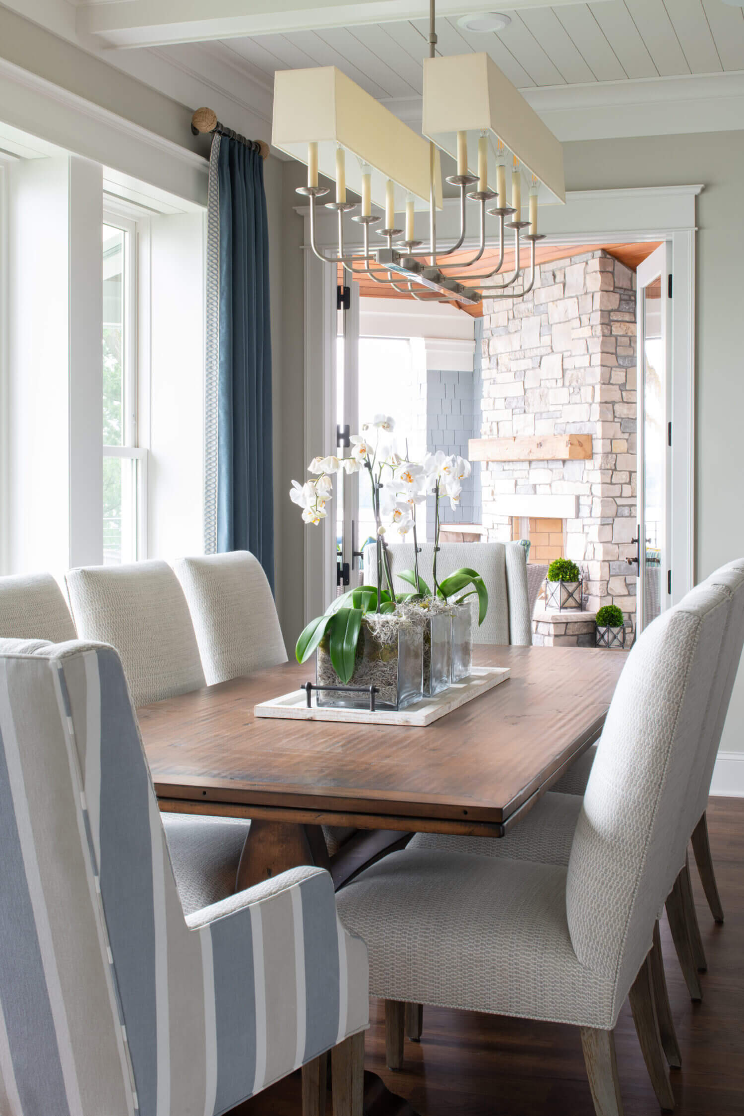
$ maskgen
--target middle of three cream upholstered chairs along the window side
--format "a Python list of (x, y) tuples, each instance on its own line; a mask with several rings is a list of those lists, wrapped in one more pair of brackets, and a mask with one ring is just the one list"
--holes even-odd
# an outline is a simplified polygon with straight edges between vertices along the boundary
[[(164, 561), (91, 566), (66, 575), (81, 639), (116, 647), (135, 709), (205, 685), (194, 626)], [(235, 889), (250, 821), (166, 814), (163, 824), (186, 913)]]

